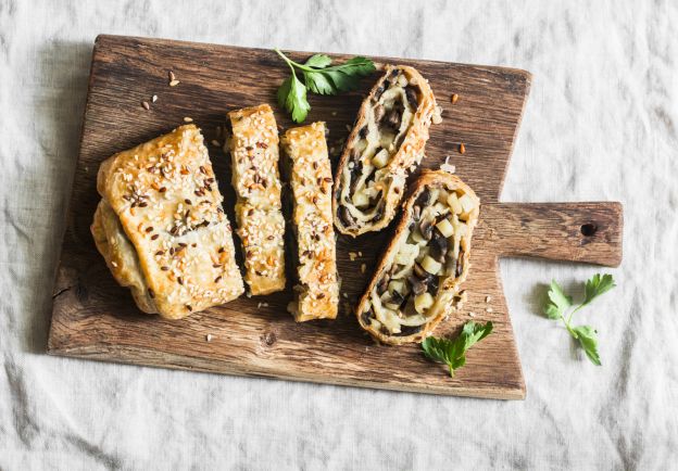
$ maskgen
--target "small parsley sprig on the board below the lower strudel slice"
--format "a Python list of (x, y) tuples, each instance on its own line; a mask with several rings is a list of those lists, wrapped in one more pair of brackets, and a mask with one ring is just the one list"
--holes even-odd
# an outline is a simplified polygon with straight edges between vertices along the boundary
[(454, 377), (454, 370), (466, 365), (466, 351), (491, 332), (492, 322), (482, 326), (469, 320), (456, 339), (428, 336), (422, 342), (422, 349), (428, 359), (447, 364), (450, 368), (450, 375)]

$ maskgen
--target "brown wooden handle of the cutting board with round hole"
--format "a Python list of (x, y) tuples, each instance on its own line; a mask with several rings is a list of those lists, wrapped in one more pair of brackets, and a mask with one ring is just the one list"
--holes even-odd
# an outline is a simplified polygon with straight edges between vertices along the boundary
[(487, 244), (498, 256), (622, 263), (624, 208), (602, 203), (489, 203), (480, 208)]

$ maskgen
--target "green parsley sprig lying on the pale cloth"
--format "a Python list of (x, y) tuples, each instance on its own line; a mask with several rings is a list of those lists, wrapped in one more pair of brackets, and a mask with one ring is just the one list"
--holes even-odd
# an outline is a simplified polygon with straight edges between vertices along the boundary
[(573, 339), (579, 341), (579, 344), (586, 352), (587, 356), (594, 365), (601, 366), (600, 355), (598, 353), (598, 331), (591, 326), (573, 327), (572, 318), (579, 309), (591, 304), (601, 294), (615, 288), (616, 284), (612, 275), (600, 273), (594, 275), (586, 282), (583, 288), (583, 301), (575, 307), (568, 315), (567, 310), (573, 307), (573, 298), (563, 292), (563, 289), (555, 282), (551, 281), (549, 290), (549, 302), (544, 306), (544, 314), (549, 319), (562, 319), (565, 323), (567, 332)]

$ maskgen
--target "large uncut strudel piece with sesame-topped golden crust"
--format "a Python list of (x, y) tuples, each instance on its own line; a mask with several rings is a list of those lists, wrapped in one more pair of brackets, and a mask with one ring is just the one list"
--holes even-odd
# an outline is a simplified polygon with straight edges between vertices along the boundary
[[(103, 199), (92, 225), (97, 246), (142, 310), (178, 319), (242, 294), (223, 198), (194, 125), (104, 161), (97, 190)], [(125, 238), (128, 244), (120, 242)]]

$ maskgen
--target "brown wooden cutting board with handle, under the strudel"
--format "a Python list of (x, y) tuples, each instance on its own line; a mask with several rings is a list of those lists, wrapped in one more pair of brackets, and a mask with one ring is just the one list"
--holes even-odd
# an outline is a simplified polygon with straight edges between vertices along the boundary
[[(309, 53), (293, 53), (305, 59)], [(348, 55), (336, 55), (344, 60)], [(467, 355), (451, 379), (427, 361), (418, 345), (375, 343), (348, 313), (361, 294), (388, 237), (340, 237), (338, 267), (343, 280), (342, 314), (335, 321), (294, 323), (286, 313), (291, 292), (241, 298), (178, 321), (141, 314), (120, 288), (95, 249), (89, 232), (99, 201), (99, 164), (113, 153), (170, 131), (192, 118), (206, 141), (226, 112), (268, 102), (278, 124), (292, 126), (275, 105), (275, 91), (289, 69), (268, 50), (100, 36), (93, 49), (80, 154), (54, 288), (48, 352), (108, 361), (216, 373), (493, 398), (525, 397), (525, 382), (502, 293), (498, 259), (537, 256), (617, 266), (622, 259), (618, 203), (499, 203), (530, 74), (502, 67), (373, 58), (414, 65), (430, 80), (443, 122), (431, 127), (423, 167), (438, 168), (450, 155), (456, 174), (480, 196), (480, 224), (474, 234), (468, 302), (437, 335), (452, 334), (472, 319), (494, 322), (492, 335)], [(180, 82), (168, 86), (168, 71)], [(339, 97), (311, 96), (307, 123), (325, 120), (335, 157), (348, 136), (362, 89)], [(459, 101), (452, 105), (452, 93)], [(158, 96), (156, 102), (151, 97)], [(148, 101), (150, 110), (141, 106)], [(459, 152), (460, 143), (466, 152)], [(234, 221), (228, 158), (210, 148)], [(359, 254), (351, 260), (350, 253)], [(361, 266), (366, 272), (362, 272)], [(486, 302), (489, 300), (489, 302)], [(208, 341), (210, 335), (211, 341)]]

